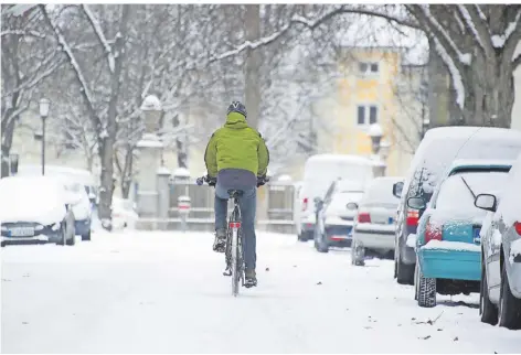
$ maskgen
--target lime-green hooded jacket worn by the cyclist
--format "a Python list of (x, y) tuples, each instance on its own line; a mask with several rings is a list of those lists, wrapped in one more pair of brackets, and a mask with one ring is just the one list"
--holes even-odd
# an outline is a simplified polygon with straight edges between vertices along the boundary
[(248, 126), (245, 117), (231, 112), (226, 123), (210, 138), (204, 162), (211, 178), (216, 178), (223, 169), (242, 169), (263, 176), (267, 172), (269, 151), (260, 133)]

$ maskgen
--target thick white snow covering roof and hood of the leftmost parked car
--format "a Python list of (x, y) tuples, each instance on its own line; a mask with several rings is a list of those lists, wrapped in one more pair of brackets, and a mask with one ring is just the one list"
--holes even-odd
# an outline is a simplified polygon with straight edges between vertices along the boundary
[(61, 223), (65, 216), (65, 191), (47, 176), (13, 176), (0, 180), (0, 220)]

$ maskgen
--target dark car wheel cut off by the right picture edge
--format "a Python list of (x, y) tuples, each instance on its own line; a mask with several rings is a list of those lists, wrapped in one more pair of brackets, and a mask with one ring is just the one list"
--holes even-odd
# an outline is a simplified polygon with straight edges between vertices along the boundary
[(499, 291), (499, 326), (509, 330), (521, 329), (521, 300), (510, 290), (506, 262), (501, 270), (501, 289)]

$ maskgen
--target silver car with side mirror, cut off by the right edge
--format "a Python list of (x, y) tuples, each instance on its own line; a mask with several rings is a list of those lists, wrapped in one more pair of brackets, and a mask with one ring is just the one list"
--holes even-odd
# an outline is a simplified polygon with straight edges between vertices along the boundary
[(521, 329), (521, 154), (500, 194), (479, 194), (489, 211), (481, 228), (481, 322)]

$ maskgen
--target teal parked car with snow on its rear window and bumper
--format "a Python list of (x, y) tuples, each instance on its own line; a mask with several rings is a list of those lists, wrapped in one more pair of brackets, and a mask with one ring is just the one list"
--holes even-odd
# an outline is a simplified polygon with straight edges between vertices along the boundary
[[(511, 165), (504, 161), (457, 160), (437, 185), (419, 219), (415, 240), (408, 241), (417, 254), (414, 286), (419, 306), (435, 306), (436, 293), (479, 292), (479, 232), (486, 213), (475, 206), (475, 198), (501, 189)], [(407, 204), (415, 209), (426, 205), (421, 195), (410, 197)]]

